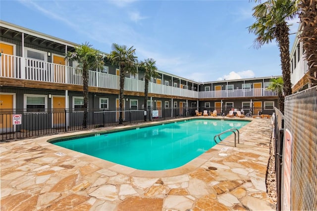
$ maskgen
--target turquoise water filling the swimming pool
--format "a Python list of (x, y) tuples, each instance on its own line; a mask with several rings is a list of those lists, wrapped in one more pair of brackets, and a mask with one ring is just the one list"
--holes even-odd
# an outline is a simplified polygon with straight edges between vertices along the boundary
[[(188, 120), (91, 137), (53, 141), (53, 144), (142, 170), (174, 169), (215, 145), (213, 137), (248, 121)], [(225, 138), (232, 133), (221, 136)]]

